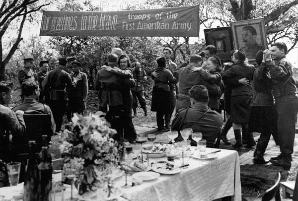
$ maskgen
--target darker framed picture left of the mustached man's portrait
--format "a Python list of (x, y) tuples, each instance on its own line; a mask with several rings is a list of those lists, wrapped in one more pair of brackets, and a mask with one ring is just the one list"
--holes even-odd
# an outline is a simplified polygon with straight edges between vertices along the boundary
[(230, 26), (204, 29), (206, 45), (214, 45), (217, 56), (224, 61), (230, 60), (229, 53), (234, 50), (232, 29)]

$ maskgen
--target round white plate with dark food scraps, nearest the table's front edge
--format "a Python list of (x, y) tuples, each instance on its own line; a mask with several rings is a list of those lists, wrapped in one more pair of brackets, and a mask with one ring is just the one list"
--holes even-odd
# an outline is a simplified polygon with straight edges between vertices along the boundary
[(154, 172), (163, 174), (163, 175), (173, 175), (181, 172), (181, 168), (175, 165), (173, 162), (169, 161), (157, 161), (152, 165), (152, 170)]

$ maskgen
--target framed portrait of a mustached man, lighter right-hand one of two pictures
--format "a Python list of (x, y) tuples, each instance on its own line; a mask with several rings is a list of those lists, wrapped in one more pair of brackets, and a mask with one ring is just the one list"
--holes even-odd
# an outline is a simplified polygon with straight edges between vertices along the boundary
[(231, 22), (235, 49), (245, 51), (249, 63), (255, 63), (259, 50), (268, 48), (264, 18)]

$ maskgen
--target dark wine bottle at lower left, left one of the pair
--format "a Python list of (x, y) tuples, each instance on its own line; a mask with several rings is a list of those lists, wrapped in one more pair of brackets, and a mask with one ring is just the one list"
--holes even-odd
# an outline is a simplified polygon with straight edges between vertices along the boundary
[(23, 201), (39, 201), (39, 172), (35, 159), (35, 140), (29, 141), (29, 160), (24, 181)]

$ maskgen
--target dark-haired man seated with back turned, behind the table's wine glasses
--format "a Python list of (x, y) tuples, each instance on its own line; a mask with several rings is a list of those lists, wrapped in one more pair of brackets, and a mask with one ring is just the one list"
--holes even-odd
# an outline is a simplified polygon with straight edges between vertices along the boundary
[[(186, 107), (177, 112), (172, 122), (172, 131), (181, 131), (185, 128), (192, 128), (193, 132), (200, 132), (203, 139), (207, 140), (207, 147), (213, 147), (223, 123), (223, 117), (208, 107), (208, 90), (203, 85), (195, 85), (189, 90), (191, 107)], [(191, 136), (192, 146), (197, 146)], [(176, 141), (182, 141), (179, 132)]]

